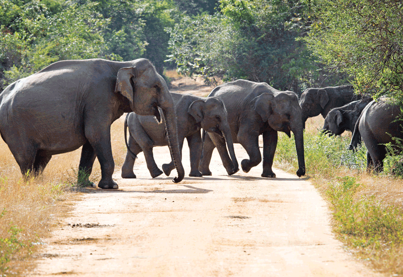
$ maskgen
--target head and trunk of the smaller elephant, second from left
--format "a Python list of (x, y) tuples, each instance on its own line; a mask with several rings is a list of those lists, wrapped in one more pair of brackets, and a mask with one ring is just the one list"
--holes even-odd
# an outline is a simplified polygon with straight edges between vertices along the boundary
[(223, 101), (217, 97), (207, 97), (204, 100), (193, 101), (187, 113), (191, 115), (201, 128), (207, 132), (217, 133), (227, 142), (228, 151), (234, 164), (233, 171), (238, 171), (238, 161), (235, 156), (231, 128), (228, 123), (228, 114)]

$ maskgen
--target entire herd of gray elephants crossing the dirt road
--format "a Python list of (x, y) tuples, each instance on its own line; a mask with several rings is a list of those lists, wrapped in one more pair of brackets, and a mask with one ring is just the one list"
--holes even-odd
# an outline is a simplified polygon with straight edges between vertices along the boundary
[[(331, 134), (354, 131), (352, 148), (361, 136), (368, 149), (368, 167), (372, 165), (375, 170), (382, 169), (386, 153), (383, 144), (392, 137), (402, 137), (396, 122), (400, 109), (385, 99), (361, 99), (352, 86), (309, 88), (298, 100), (292, 91), (237, 80), (214, 88), (208, 97), (198, 97), (171, 93), (146, 59), (60, 61), (17, 80), (0, 94), (0, 133), (25, 177), (40, 174), (52, 155), (82, 146), (79, 170), (87, 177), (81, 182), (93, 185), (88, 176), (97, 157), (101, 165), (98, 187), (117, 189), (112, 180), (115, 165), (110, 126), (123, 113), (128, 114), (122, 178), (136, 178), (133, 165), (143, 151), (153, 178), (162, 173), (168, 176), (176, 168), (176, 183), (185, 174), (181, 161), (185, 138), (190, 149), (189, 176), (200, 177), (211, 175), (214, 148), (228, 175), (239, 171), (233, 143), (245, 148), (249, 158), (241, 161), (241, 168), (249, 172), (262, 161), (258, 144), (262, 135), (261, 176), (274, 178), (272, 165), (279, 131), (289, 137), (293, 132), (296, 174), (305, 175), (303, 131), (309, 117), (321, 114), (325, 118), (323, 129)], [(172, 160), (163, 164), (161, 171), (152, 149), (165, 145)]]

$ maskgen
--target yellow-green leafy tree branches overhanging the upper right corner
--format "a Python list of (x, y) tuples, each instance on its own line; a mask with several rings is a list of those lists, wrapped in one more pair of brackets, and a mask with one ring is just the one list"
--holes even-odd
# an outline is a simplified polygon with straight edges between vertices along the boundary
[(403, 98), (403, 3), (318, 0), (306, 41), (322, 62), (348, 73), (361, 92)]

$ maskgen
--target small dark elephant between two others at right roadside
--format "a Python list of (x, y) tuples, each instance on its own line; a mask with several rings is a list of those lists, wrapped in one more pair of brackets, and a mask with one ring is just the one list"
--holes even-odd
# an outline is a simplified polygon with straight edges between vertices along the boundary
[(371, 101), (372, 98), (365, 98), (332, 108), (324, 119), (322, 130), (329, 135), (341, 135), (346, 130), (353, 132), (362, 110)]

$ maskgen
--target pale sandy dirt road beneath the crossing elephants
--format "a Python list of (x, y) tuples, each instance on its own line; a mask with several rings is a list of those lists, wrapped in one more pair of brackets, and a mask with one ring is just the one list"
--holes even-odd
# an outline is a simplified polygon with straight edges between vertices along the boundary
[[(246, 152), (235, 145), (238, 161)], [(167, 147), (154, 148), (159, 166)], [(189, 172), (188, 148), (183, 165)], [(213, 176), (152, 179), (144, 156), (137, 179), (78, 201), (46, 241), (31, 276), (380, 276), (345, 252), (329, 210), (307, 181), (261, 164), (227, 176), (217, 150)], [(176, 175), (175, 175), (176, 176)]]

